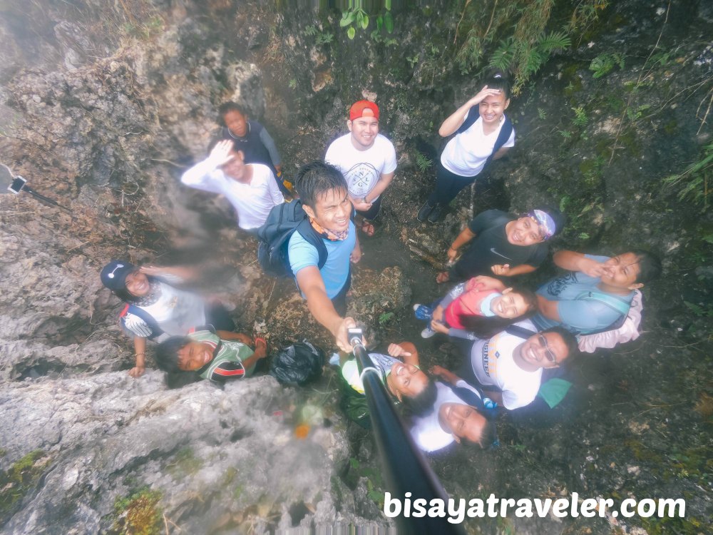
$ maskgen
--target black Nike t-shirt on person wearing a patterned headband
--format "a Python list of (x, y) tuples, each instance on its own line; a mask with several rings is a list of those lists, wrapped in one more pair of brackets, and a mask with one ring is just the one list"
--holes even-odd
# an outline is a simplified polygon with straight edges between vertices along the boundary
[(493, 275), (491, 266), (509, 264), (510, 267), (528, 264), (537, 267), (547, 258), (548, 245), (513, 245), (508, 242), (505, 226), (515, 220), (501, 210), (486, 210), (468, 223), (476, 235), (468, 249), (453, 266), (456, 277), (469, 279), (476, 275)]

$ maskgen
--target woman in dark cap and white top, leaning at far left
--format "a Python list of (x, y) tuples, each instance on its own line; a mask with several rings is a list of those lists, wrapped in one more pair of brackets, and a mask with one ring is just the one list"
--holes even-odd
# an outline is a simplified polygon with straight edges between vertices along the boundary
[(183, 267), (138, 267), (125, 260), (112, 260), (101, 270), (101, 282), (126, 303), (120, 313), (123, 329), (133, 337), (136, 364), (129, 375), (145, 370), (146, 339), (185, 336), (191, 327), (212, 325), (232, 331), (235, 323), (225, 307), (207, 304), (198, 295), (179, 290), (190, 270)]

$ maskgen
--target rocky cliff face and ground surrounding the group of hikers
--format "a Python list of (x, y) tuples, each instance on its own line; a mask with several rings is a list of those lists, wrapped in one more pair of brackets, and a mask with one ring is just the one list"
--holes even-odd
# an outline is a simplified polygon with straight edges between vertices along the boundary
[[(375, 340), (417, 336), (409, 305), (441, 291), (422, 260), (438, 265), (473, 209), (555, 203), (570, 216), (558, 247), (647, 246), (666, 255), (665, 280), (647, 292), (647, 334), (583, 362), (577, 403), (550, 429), (504, 419), (498, 452), (436, 460), (446, 489), (458, 497), (685, 496), (685, 521), (600, 519), (587, 529), (706, 531), (713, 223), (662, 182), (711, 142), (712, 16), (704, 3), (610, 8), (513, 99), (516, 151), (493, 169), (474, 206), (463, 193), (435, 228), (414, 228), (432, 180), (418, 155), (429, 156), (438, 123), (478, 88), (443, 61), (457, 14), (404, 13), (388, 43), (349, 41), (335, 14), (277, 14), (270, 2), (120, 4), (32, 3), (7, 8), (0, 24), (8, 43), (3, 163), (69, 210), (26, 193), (0, 197), (6, 533), (386, 524), (378, 460), (369, 437), (339, 413), (333, 372), (308, 390), (270, 377), (174, 391), (156, 371), (131, 379), (119, 303), (97, 276), (110, 258), (208, 258), (202, 287), (233, 307), (240, 330), (267, 333), (272, 347), (302, 337), (330, 347), (294, 286), (262, 277), (255, 243), (237, 233), (225, 201), (187, 192), (178, 178), (204, 156), (223, 101), (246, 103), (270, 128), (289, 174), (322, 157), (357, 98), (379, 101), (382, 130), (400, 155), (379, 237), (364, 243), (355, 273), (352, 311)], [(696, 14), (690, 24), (686, 9)], [(590, 66), (602, 55), (613, 63), (595, 77)], [(447, 343), (421, 350), (426, 364), (456, 363)], [(304, 411), (314, 406), (322, 407), (317, 417)], [(299, 424), (307, 424), (302, 438)], [(542, 525), (578, 529), (555, 519)], [(493, 521), (478, 529), (504, 528)]]

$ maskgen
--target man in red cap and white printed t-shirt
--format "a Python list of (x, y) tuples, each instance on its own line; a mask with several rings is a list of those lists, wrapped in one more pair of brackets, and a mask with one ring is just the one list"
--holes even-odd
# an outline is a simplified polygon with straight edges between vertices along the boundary
[(342, 171), (361, 230), (373, 236), (371, 221), (379, 214), (381, 193), (394, 178), (396, 151), (379, 133), (379, 106), (373, 102), (355, 102), (349, 109), (347, 127), (349, 133), (332, 142), (324, 161)]

